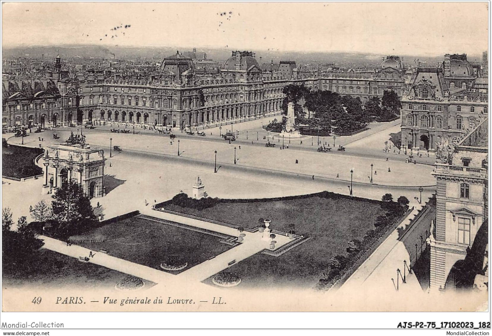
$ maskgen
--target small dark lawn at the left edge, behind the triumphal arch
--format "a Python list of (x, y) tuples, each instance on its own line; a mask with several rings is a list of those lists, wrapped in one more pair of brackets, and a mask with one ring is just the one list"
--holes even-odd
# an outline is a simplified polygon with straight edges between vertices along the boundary
[(2, 148), (2, 175), (9, 177), (29, 177), (41, 175), (43, 169), (34, 164), (34, 159), (44, 150), (40, 148), (30, 148), (8, 145)]

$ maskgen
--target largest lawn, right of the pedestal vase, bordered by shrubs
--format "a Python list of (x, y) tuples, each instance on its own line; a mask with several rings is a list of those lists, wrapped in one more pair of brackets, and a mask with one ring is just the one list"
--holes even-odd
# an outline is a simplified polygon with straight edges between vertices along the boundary
[(293, 223), (297, 234), (312, 237), (279, 257), (256, 254), (228, 269), (241, 277), (238, 288), (313, 287), (328, 269), (330, 259), (347, 254), (348, 241), (362, 241), (367, 231), (374, 229), (375, 218), (386, 213), (379, 202), (318, 196), (272, 202), (225, 202), (201, 211), (168, 204), (164, 207), (250, 228), (258, 225), (259, 218), (270, 219), (270, 227), (280, 231), (289, 231), (289, 224)]

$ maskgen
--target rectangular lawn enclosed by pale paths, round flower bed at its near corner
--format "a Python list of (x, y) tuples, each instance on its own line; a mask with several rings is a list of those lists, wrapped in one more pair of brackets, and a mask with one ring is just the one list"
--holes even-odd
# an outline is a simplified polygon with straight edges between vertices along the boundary
[[(139, 217), (131, 217), (97, 228), (76, 240), (104, 240), (77, 244), (94, 251), (109, 254), (137, 264), (163, 270), (160, 264), (171, 256), (188, 263), (186, 269), (227, 251), (231, 246), (222, 244), (218, 237), (161, 224)], [(184, 269), (183, 269), (184, 270)], [(169, 271), (179, 273), (180, 271)]]

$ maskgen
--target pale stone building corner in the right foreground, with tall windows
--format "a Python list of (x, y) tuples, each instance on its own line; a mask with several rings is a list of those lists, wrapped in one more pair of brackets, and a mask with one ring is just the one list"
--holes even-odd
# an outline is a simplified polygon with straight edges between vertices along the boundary
[[(488, 216), (488, 119), (452, 148), (451, 162), (436, 164), (436, 220), (431, 244), (430, 288), (445, 290), (453, 265), (465, 258)], [(487, 224), (486, 224), (487, 225)], [(448, 285), (449, 286), (449, 285)]]

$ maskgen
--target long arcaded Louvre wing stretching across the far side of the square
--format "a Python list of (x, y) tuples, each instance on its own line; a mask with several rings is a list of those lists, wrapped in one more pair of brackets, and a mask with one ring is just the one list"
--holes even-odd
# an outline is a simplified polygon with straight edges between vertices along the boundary
[[(472, 88), (478, 76), (468, 75), (466, 85)], [(57, 56), (53, 71), (42, 78), (3, 76), (2, 130), (84, 123), (201, 129), (280, 114), (285, 98), (282, 90), (289, 84), (366, 102), (387, 90), (406, 97), (416, 76), (415, 69), (405, 67), (398, 56), (386, 57), (377, 69), (342, 71), (298, 67), (294, 61), (260, 65), (249, 51), (234, 51), (219, 65), (206, 54), (198, 58), (193, 50), (176, 52), (164, 58), (159, 68), (138, 77), (124, 71), (69, 73)], [(455, 84), (461, 88), (461, 82)], [(408, 96), (407, 101), (418, 106), (415, 97), (410, 100)], [(405, 118), (409, 103), (405, 104)], [(407, 137), (417, 134), (417, 130), (405, 132)], [(418, 141), (408, 143), (413, 146)]]

